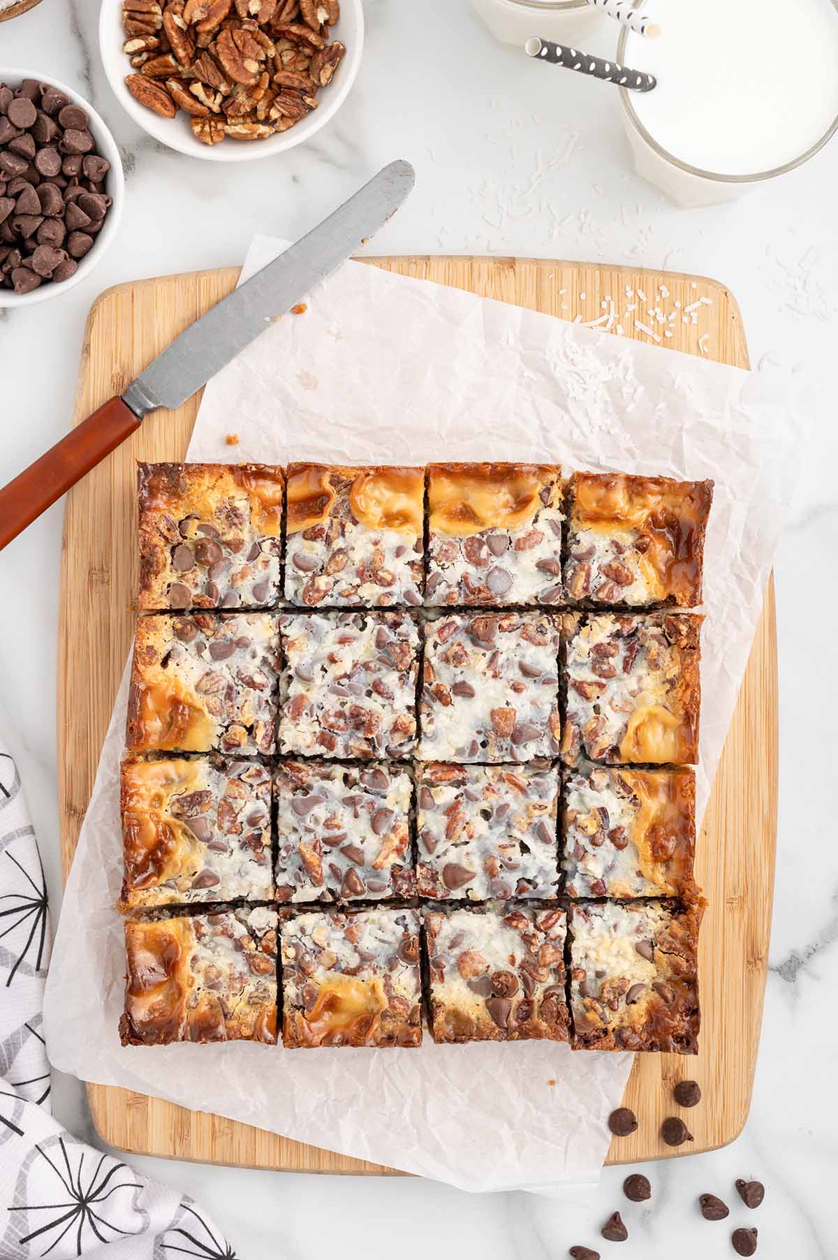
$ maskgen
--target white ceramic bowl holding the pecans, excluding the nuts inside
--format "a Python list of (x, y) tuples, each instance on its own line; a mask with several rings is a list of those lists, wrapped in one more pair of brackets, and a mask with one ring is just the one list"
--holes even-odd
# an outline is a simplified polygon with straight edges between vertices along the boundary
[(205, 161), (253, 161), (257, 158), (273, 158), (276, 154), (294, 149), (316, 135), (338, 112), (349, 96), (360, 68), (360, 54), (364, 47), (364, 10), (360, 0), (340, 0), (340, 19), (330, 28), (330, 35), (345, 45), (347, 53), (335, 71), (331, 83), (318, 92), (320, 102), (316, 110), (301, 118), (294, 127), (266, 140), (231, 140), (218, 145), (204, 145), (192, 134), (192, 127), (183, 110), (174, 118), (161, 118), (160, 115), (131, 96), (125, 86), (127, 74), (135, 74), (131, 63), (122, 52), (125, 32), (122, 30), (122, 0), (102, 0), (100, 10), (100, 53), (105, 73), (116, 93), (120, 105), (127, 110), (135, 122), (155, 140), (160, 140), (178, 152), (190, 158), (203, 158)]

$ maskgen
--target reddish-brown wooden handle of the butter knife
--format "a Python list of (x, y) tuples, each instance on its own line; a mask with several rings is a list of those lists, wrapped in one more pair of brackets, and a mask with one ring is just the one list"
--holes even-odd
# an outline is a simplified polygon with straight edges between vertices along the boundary
[(142, 423), (116, 396), (0, 490), (0, 551)]

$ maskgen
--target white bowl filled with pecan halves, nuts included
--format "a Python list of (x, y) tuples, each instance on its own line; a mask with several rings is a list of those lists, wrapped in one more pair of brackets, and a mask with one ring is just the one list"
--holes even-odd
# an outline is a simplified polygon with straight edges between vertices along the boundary
[(360, 0), (103, 0), (100, 48), (131, 117), (210, 161), (270, 158), (338, 112), (360, 67)]

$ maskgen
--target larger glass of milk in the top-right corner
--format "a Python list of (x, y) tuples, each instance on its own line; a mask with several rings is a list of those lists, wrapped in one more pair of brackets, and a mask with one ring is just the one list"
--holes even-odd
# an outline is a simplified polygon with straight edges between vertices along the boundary
[(624, 28), (616, 59), (658, 86), (620, 88), (623, 115), (638, 174), (679, 205), (732, 200), (799, 166), (838, 130), (838, 0), (648, 8), (660, 38)]

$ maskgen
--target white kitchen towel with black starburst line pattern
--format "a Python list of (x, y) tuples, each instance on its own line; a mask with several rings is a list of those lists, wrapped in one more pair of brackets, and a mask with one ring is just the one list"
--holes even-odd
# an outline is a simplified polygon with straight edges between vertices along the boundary
[(40, 1033), (47, 885), (18, 764), (0, 735), (0, 1257), (236, 1252), (188, 1196), (78, 1142), (49, 1110)]

